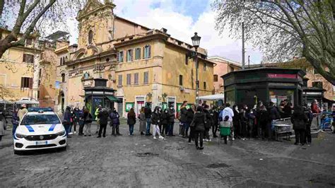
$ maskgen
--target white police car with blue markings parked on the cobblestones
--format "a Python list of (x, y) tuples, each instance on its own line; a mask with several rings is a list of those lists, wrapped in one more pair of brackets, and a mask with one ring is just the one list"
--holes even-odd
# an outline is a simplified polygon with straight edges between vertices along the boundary
[(32, 110), (25, 114), (13, 136), (14, 153), (45, 148), (66, 149), (66, 131), (54, 112)]

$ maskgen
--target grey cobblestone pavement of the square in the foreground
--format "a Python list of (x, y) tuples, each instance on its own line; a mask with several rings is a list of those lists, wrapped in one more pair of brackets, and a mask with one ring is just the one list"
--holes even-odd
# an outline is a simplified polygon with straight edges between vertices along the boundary
[[(177, 124), (175, 132), (177, 132)], [(0, 187), (334, 187), (335, 135), (312, 146), (293, 141), (213, 139), (196, 151), (179, 136), (153, 140), (74, 135), (66, 151), (14, 155), (10, 130), (0, 143)], [(92, 130), (95, 130), (93, 125)], [(153, 153), (153, 155), (139, 155)]]

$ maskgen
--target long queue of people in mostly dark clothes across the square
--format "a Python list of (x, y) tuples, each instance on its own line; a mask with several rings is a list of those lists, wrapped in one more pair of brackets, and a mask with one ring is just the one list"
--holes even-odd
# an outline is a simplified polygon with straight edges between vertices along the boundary
[[(26, 105), (21, 105), (20, 109), (15, 109), (12, 117), (13, 134), (16, 127), (28, 110)], [(209, 107), (206, 102), (203, 105), (191, 105), (187, 107), (187, 101), (184, 101), (177, 113), (173, 106), (167, 109), (155, 107), (153, 112), (151, 107), (146, 105), (142, 107), (139, 114), (136, 115), (134, 109), (131, 108), (127, 114), (127, 124), (129, 125), (129, 136), (134, 136), (134, 126), (139, 121), (139, 134), (145, 136), (153, 136), (153, 139), (165, 139), (166, 136), (175, 136), (174, 125), (179, 122), (179, 136), (188, 139), (189, 144), (196, 145), (197, 149), (203, 149), (203, 141), (211, 141), (211, 137), (218, 137), (220, 127), (231, 128), (231, 139), (267, 139), (274, 140), (274, 121), (276, 119), (290, 119), (293, 123), (295, 131), (295, 144), (310, 144), (311, 123), (313, 119), (312, 113), (321, 112), (317, 101), (312, 102), (310, 107), (307, 105), (292, 107), (288, 100), (281, 101), (276, 107), (274, 102), (264, 105), (258, 102), (253, 108), (247, 105), (225, 104), (221, 107)], [(119, 114), (114, 108), (107, 110), (101, 105), (97, 107), (93, 115), (85, 106), (82, 109), (75, 107), (66, 107), (62, 114), (62, 124), (66, 129), (69, 138), (71, 134), (78, 136), (92, 136), (98, 134), (98, 138), (106, 136), (107, 124), (112, 127), (112, 136), (122, 136), (119, 131)], [(0, 141), (4, 135), (4, 124), (6, 123), (6, 115), (4, 111), (0, 112)], [(91, 130), (91, 124), (95, 120), (98, 127)], [(151, 133), (152, 127), (152, 133)], [(220, 133), (219, 133), (220, 134)], [(228, 137), (224, 138), (227, 143)]]

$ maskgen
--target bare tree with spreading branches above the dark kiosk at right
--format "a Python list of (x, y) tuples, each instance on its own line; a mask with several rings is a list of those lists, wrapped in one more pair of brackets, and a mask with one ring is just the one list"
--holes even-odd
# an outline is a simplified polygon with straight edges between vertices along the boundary
[(305, 57), (335, 85), (335, 1), (223, 1), (212, 4), (216, 29), (229, 28), (259, 47), (265, 61), (288, 61)]

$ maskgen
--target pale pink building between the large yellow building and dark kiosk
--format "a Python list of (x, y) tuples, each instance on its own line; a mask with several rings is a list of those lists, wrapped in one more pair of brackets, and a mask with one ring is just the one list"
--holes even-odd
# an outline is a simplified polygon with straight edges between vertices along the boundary
[(215, 94), (224, 93), (223, 82), (221, 81), (221, 76), (228, 74), (233, 71), (238, 71), (242, 69), (240, 63), (236, 61), (232, 61), (229, 59), (225, 59), (224, 57), (208, 57), (209, 61), (213, 61), (216, 66), (214, 66), (214, 74), (213, 74), (213, 83)]

